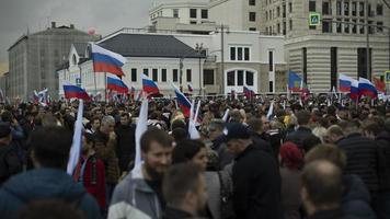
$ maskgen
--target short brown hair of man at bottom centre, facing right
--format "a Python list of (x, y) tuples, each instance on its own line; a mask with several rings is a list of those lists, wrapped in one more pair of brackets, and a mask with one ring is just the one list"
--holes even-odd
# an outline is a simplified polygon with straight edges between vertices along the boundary
[(180, 205), (185, 199), (186, 193), (197, 193), (200, 174), (200, 168), (193, 163), (172, 165), (162, 182), (165, 201), (171, 205)]

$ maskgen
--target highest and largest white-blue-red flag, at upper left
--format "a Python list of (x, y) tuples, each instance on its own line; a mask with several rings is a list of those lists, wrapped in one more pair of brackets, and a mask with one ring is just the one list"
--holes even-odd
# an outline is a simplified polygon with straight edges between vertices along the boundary
[(119, 77), (125, 74), (122, 70), (127, 62), (125, 57), (95, 44), (91, 44), (91, 51), (94, 72), (110, 72)]

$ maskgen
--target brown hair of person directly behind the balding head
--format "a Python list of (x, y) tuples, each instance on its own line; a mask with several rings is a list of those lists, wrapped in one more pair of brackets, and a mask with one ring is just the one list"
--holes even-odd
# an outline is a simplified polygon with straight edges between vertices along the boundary
[(305, 157), (305, 163), (307, 164), (318, 160), (326, 160), (341, 170), (344, 170), (346, 166), (345, 152), (334, 145), (319, 145)]

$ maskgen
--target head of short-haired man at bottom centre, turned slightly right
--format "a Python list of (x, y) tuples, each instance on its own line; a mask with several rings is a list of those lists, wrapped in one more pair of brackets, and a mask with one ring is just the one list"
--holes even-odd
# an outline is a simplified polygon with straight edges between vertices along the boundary
[(199, 165), (192, 163), (172, 165), (164, 176), (162, 186), (167, 199), (162, 219), (195, 219), (206, 205), (206, 181)]

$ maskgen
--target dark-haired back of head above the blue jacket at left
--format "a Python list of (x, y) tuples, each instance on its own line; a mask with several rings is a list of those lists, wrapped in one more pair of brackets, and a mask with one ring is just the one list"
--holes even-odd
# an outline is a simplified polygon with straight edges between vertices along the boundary
[(71, 132), (59, 126), (43, 127), (30, 138), (33, 160), (44, 168), (66, 169), (71, 143)]

